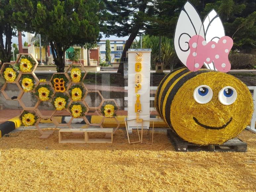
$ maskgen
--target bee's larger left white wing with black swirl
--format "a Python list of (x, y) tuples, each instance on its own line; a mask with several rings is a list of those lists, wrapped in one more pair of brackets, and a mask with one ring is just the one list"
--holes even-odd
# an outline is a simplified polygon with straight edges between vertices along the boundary
[(202, 20), (195, 7), (187, 1), (182, 7), (174, 32), (174, 46), (179, 60), (186, 66), (190, 53), (188, 41), (193, 35), (204, 36)]

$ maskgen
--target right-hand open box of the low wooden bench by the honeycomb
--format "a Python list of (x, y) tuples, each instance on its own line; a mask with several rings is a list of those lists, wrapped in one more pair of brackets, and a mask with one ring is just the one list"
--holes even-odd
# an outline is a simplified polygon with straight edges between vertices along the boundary
[[(90, 133), (106, 133), (105, 138), (90, 138)], [(86, 143), (113, 143), (113, 128), (88, 128)]]

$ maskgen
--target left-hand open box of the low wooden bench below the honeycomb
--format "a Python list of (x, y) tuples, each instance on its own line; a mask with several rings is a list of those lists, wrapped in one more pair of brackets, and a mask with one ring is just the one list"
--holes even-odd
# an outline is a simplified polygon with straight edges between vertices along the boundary
[[(86, 143), (86, 130), (87, 129), (77, 129), (77, 128), (61, 128), (59, 130), (59, 143)], [(63, 133), (84, 133), (84, 138), (68, 138), (63, 139)]]

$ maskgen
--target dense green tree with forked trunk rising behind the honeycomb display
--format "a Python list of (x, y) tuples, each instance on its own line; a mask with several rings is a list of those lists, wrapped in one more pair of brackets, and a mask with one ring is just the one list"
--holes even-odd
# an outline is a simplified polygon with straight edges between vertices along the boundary
[(73, 45), (99, 38), (99, 0), (10, 0), (17, 28), (45, 35), (50, 42), (57, 72), (64, 72), (65, 52)]

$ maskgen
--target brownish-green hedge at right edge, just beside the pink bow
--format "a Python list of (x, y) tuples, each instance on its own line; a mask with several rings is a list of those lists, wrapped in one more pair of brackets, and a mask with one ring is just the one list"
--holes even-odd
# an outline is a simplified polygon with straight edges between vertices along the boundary
[(256, 55), (245, 53), (230, 53), (231, 69), (255, 69)]

